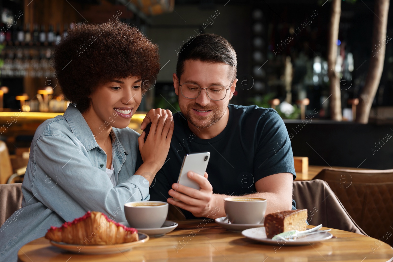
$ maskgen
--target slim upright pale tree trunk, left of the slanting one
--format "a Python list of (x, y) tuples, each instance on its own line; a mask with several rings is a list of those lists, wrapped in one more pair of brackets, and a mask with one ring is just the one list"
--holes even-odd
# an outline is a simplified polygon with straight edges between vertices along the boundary
[(338, 39), (338, 26), (340, 24), (341, 15), (341, 0), (332, 1), (332, 10), (329, 25), (329, 42), (327, 61), (329, 66), (329, 80), (330, 80), (330, 111), (331, 118), (336, 121), (342, 121), (341, 112), (341, 90), (340, 79), (338, 73), (335, 71), (337, 60), (337, 39)]

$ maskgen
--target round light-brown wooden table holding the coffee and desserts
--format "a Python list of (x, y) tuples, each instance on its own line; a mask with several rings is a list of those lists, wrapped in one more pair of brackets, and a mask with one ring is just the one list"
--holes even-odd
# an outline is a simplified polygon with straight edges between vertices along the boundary
[[(290, 247), (264, 245), (243, 237), (241, 233), (226, 231), (215, 222), (208, 222), (206, 225), (202, 220), (176, 222), (179, 225), (171, 233), (151, 237), (146, 243), (124, 253), (79, 255), (62, 251), (51, 246), (49, 240), (39, 238), (24, 245), (19, 250), (18, 257), (23, 262), (386, 262), (393, 258), (393, 248), (389, 245), (368, 236), (338, 229), (332, 229), (334, 238), (324, 242)], [(375, 247), (374, 252), (371, 247)]]

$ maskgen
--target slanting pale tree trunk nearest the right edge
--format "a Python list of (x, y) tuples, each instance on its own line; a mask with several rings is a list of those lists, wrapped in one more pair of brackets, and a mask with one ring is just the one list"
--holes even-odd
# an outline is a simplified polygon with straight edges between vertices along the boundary
[[(373, 38), (371, 39), (371, 59), (366, 81), (360, 92), (360, 101), (356, 110), (356, 122), (367, 124), (371, 105), (375, 97), (384, 70), (385, 47), (387, 42), (386, 27), (389, 0), (376, 0), (374, 9)], [(390, 37), (391, 39), (391, 37)], [(390, 40), (389, 39), (389, 40)]]

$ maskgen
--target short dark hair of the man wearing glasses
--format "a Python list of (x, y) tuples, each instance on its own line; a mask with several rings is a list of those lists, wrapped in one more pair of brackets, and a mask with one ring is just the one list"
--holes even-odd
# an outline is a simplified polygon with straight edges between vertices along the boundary
[(179, 57), (176, 64), (176, 75), (180, 76), (184, 72), (185, 60), (200, 60), (202, 62), (221, 62), (232, 67), (228, 77), (236, 77), (236, 52), (231, 44), (224, 38), (215, 34), (202, 34), (191, 37), (180, 48)]

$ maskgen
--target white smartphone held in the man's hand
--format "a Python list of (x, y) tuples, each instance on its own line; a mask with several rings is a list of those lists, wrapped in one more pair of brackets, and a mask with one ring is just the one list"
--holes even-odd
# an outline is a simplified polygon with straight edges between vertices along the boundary
[[(184, 156), (177, 183), (199, 190), (198, 183), (187, 177), (187, 172), (192, 171), (203, 176), (206, 172), (210, 159), (210, 152), (196, 152)], [(175, 199), (176, 200), (176, 199)]]

